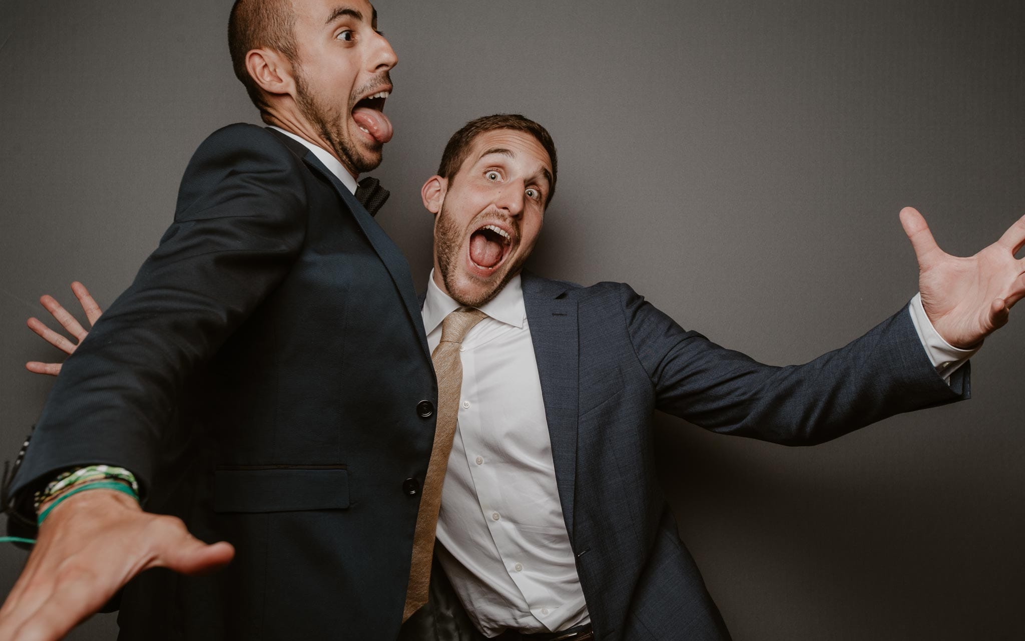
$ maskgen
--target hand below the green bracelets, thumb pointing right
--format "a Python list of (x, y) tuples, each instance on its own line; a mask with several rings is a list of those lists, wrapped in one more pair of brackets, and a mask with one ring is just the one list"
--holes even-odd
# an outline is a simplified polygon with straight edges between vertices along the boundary
[(180, 519), (144, 512), (121, 492), (79, 492), (53, 508), (40, 526), (29, 561), (0, 608), (0, 639), (60, 639), (144, 570), (201, 574), (234, 555), (231, 544), (207, 545)]

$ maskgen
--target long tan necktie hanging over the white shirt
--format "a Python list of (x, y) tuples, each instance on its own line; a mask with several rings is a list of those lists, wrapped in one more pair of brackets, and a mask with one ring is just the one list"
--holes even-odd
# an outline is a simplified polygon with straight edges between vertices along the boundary
[(438, 510), (442, 505), (442, 485), (445, 470), (452, 452), (452, 438), (459, 414), (459, 389), (462, 387), (462, 361), (459, 346), (469, 328), (481, 322), (487, 314), (474, 308), (462, 307), (445, 317), (442, 322), (442, 342), (430, 358), (438, 376), (438, 422), (435, 427), (435, 445), (430, 450), (427, 475), (423, 479), (420, 510), (416, 514), (413, 533), (413, 562), (409, 568), (409, 586), (406, 588), (406, 607), (402, 613), (405, 622), (427, 602), (430, 584), (430, 561), (435, 552), (435, 531), (438, 529)]

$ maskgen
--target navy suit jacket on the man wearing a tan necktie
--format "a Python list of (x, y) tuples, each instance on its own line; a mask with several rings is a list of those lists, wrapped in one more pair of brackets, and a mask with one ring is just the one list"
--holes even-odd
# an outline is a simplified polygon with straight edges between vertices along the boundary
[[(656, 480), (656, 409), (721, 434), (812, 445), (969, 397), (969, 365), (948, 386), (906, 307), (844, 348), (774, 367), (685, 330), (622, 283), (525, 273), (523, 292), (563, 517), (601, 641), (730, 638)], [(480, 639), (443, 573), (434, 578), (401, 638)]]

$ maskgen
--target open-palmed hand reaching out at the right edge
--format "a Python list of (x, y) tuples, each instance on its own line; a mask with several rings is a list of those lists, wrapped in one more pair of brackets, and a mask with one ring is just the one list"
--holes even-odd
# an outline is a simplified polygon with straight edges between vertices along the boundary
[(975, 347), (1008, 322), (1011, 308), (1025, 296), (1025, 245), (1022, 216), (992, 245), (974, 256), (952, 256), (936, 244), (917, 210), (900, 212), (918, 259), (921, 305), (940, 335), (955, 348)]

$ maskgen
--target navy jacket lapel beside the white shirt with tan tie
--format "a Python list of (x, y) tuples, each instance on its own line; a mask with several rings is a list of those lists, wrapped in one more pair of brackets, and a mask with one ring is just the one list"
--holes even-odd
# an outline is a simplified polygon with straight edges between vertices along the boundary
[(534, 343), (541, 396), (551, 438), (559, 502), (566, 529), (573, 540), (573, 505), (576, 491), (578, 369), (577, 304), (561, 297), (567, 287), (556, 281), (523, 273), (523, 298), (530, 337)]

